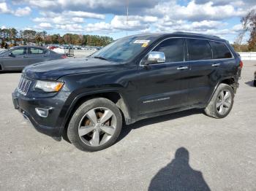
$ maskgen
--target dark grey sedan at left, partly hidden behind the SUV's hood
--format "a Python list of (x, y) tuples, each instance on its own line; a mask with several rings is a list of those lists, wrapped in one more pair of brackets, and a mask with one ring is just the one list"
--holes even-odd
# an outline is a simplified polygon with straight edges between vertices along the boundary
[(67, 58), (45, 47), (18, 46), (0, 52), (0, 71), (21, 71), (33, 63)]

